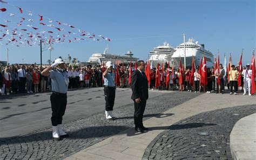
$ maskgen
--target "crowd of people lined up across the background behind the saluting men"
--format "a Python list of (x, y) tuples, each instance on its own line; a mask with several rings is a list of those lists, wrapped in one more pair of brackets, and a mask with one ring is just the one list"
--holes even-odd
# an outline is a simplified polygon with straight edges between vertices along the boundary
[[(18, 64), (13, 64), (6, 67), (0, 67), (0, 95), (9, 95), (16, 93), (37, 93), (45, 92), (51, 90), (51, 78), (43, 76), (41, 74), (45, 67), (35, 66), (31, 64), (30, 66), (18, 66)], [(69, 77), (69, 89), (76, 88), (95, 88), (103, 86), (103, 66), (97, 65), (92, 66), (88, 64), (86, 67), (71, 67), (66, 66), (66, 71)], [(131, 67), (132, 72), (134, 67)], [(120, 67), (119, 69), (119, 79), (116, 80), (116, 85), (119, 88), (126, 88), (129, 86), (129, 73), (130, 67)], [(207, 85), (200, 84), (200, 74), (199, 66), (196, 67), (194, 76), (191, 76), (191, 69), (187, 68), (180, 76), (179, 69), (170, 69), (170, 80), (166, 83), (167, 68), (164, 71), (159, 69), (160, 72), (160, 82), (159, 86), (156, 86), (157, 78), (157, 68), (152, 67), (150, 70), (150, 85), (151, 90), (182, 90), (188, 92), (206, 92), (206, 93), (224, 93), (225, 86), (230, 91), (230, 94), (238, 94), (238, 85), (241, 86), (240, 92), (248, 90), (250, 95), (251, 81), (250, 77), (252, 71), (250, 65), (247, 64), (243, 67), (243, 72), (238, 71), (238, 67), (232, 65), (232, 69), (229, 73), (225, 72), (222, 64), (220, 64), (220, 72), (214, 70), (214, 67), (207, 68)], [(246, 72), (247, 70), (247, 72)], [(113, 69), (113, 72), (116, 72)], [(218, 75), (219, 74), (219, 75)], [(240, 76), (239, 76), (240, 75)], [(219, 83), (217, 83), (217, 78), (219, 77)], [(180, 84), (180, 78), (182, 78), (182, 84)], [(191, 81), (191, 78), (192, 81)], [(240, 84), (238, 84), (240, 78)], [(119, 81), (119, 83), (117, 83)], [(193, 82), (193, 83), (191, 83)], [(245, 82), (245, 85), (244, 85)], [(244, 87), (245, 86), (245, 87)]]

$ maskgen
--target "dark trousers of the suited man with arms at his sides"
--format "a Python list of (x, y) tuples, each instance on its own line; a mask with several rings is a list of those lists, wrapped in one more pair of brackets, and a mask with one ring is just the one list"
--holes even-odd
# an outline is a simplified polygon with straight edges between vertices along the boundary
[(142, 122), (142, 119), (143, 119), (143, 114), (144, 114), (144, 111), (145, 111), (145, 108), (146, 108), (146, 103), (147, 101), (146, 100), (142, 100), (140, 101), (140, 103), (136, 103), (135, 100), (134, 101), (134, 124), (135, 124), (135, 127), (143, 127), (143, 122)]

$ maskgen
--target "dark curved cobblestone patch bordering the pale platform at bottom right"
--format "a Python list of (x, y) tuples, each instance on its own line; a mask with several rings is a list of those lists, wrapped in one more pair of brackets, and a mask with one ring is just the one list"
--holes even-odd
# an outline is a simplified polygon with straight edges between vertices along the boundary
[(255, 105), (237, 106), (181, 120), (150, 143), (143, 159), (232, 159), (231, 130), (239, 119), (255, 112)]

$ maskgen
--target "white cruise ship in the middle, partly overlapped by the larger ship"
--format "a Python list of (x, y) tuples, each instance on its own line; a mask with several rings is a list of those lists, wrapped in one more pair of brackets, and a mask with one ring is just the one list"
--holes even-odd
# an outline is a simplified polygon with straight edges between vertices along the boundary
[(172, 60), (172, 55), (175, 52), (174, 48), (169, 45), (169, 43), (164, 42), (164, 46), (155, 47), (153, 50), (150, 51), (150, 62), (153, 63), (153, 66), (157, 65), (157, 62), (169, 62)]

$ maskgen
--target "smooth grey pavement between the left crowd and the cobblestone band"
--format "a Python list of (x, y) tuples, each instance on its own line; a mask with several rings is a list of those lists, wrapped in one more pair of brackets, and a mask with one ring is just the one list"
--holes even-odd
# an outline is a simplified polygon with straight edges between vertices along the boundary
[[(0, 96), (0, 137), (21, 136), (51, 126), (51, 92)], [(114, 107), (132, 103), (130, 89), (117, 89)], [(149, 97), (165, 92), (150, 91)], [(68, 104), (63, 122), (89, 117), (104, 111), (103, 88), (68, 91)], [(17, 121), (18, 120), (18, 121)]]

